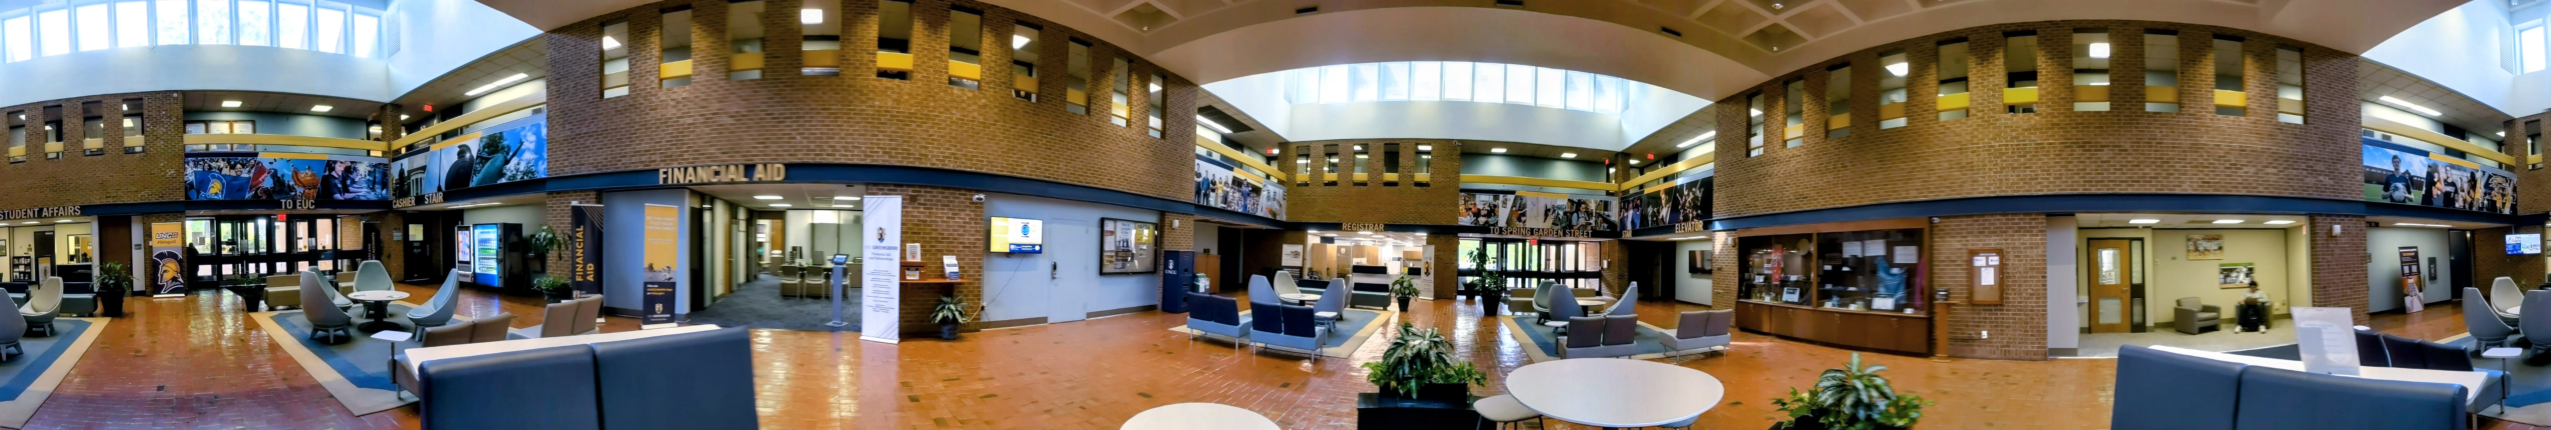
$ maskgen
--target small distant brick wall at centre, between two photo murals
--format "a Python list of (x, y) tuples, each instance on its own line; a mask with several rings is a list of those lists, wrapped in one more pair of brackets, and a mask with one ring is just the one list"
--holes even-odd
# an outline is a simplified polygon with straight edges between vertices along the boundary
[[(1385, 186), (1380, 155), (1385, 142), (1398, 142), (1400, 148), (1400, 186)], [(1457, 206), (1462, 201), (1462, 140), (1316, 140), (1316, 142), (1283, 142), (1283, 155), (1276, 158), (1276, 168), (1286, 176), (1298, 176), (1306, 168), (1319, 170), (1319, 160), (1293, 163), (1296, 155), (1309, 153), (1319, 158), (1324, 153), (1337, 153), (1339, 163), (1355, 160), (1355, 145), (1365, 145), (1372, 153), (1367, 158), (1372, 165), (1365, 186), (1355, 186), (1355, 165), (1339, 165), (1337, 186), (1324, 186), (1319, 176), (1311, 176), (1311, 186), (1304, 181), (1286, 183), (1286, 219), (1288, 221), (1380, 221), (1380, 224), (1454, 224)], [(1418, 145), (1434, 145), (1429, 150), (1434, 163), (1429, 170), (1429, 186), (1416, 186), (1408, 173), (1416, 173)], [(1311, 148), (1311, 150), (1304, 150)]]

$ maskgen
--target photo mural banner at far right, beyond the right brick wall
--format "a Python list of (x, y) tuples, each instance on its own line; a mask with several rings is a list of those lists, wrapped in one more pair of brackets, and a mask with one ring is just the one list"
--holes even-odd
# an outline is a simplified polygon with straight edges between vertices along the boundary
[(2365, 140), (2365, 198), (2515, 214), (2515, 176), (2398, 142)]

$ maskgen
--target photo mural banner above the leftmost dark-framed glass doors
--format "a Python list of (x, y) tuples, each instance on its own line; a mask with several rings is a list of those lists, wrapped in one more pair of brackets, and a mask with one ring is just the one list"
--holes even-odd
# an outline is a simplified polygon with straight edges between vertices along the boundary
[(186, 153), (186, 198), (388, 201), (383, 158), (316, 153)]

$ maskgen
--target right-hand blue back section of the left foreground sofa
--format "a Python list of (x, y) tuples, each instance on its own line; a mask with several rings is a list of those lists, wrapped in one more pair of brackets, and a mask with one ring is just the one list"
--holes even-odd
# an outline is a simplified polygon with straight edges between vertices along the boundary
[(602, 341), (592, 354), (605, 427), (760, 427), (745, 328)]

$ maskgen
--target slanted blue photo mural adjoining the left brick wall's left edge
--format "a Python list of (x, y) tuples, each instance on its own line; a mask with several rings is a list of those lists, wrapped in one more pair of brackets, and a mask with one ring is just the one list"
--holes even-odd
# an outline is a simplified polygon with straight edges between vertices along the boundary
[(548, 178), (548, 114), (531, 114), (390, 160), (401, 196)]

